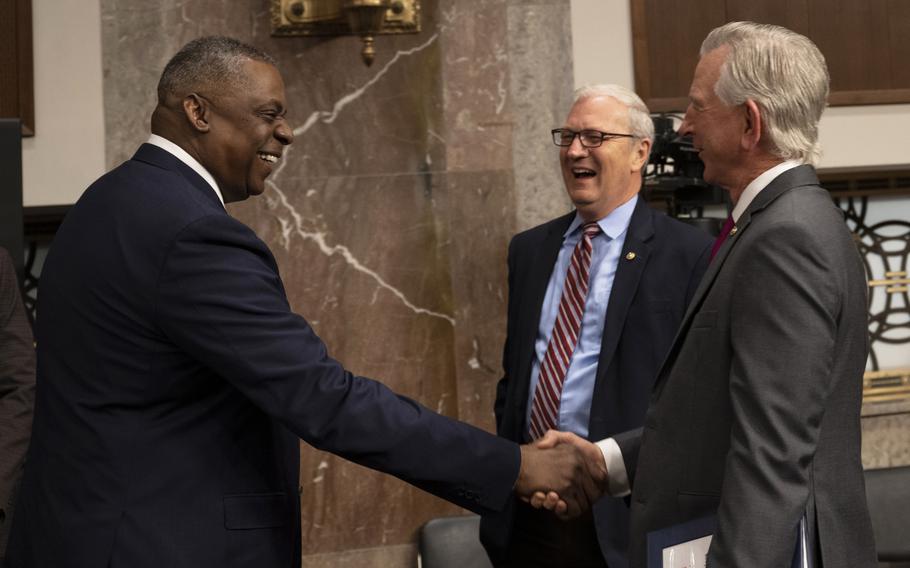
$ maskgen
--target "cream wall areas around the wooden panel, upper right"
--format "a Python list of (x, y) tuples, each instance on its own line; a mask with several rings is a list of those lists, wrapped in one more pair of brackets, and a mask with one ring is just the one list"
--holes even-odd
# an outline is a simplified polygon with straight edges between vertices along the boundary
[[(629, 0), (572, 0), (575, 85), (634, 87)], [(910, 105), (833, 107), (820, 126), (822, 168), (910, 164)]]

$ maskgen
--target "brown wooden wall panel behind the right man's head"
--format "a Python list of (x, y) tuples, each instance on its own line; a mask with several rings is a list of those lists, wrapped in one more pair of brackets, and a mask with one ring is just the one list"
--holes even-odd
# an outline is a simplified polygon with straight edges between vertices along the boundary
[(654, 111), (682, 111), (705, 35), (724, 22), (786, 26), (828, 61), (832, 105), (910, 102), (908, 0), (630, 0), (635, 88)]

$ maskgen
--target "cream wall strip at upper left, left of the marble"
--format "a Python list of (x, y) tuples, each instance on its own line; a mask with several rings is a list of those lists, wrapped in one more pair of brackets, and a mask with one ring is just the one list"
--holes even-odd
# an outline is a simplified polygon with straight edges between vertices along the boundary
[(98, 0), (33, 0), (35, 129), (22, 143), (26, 206), (74, 202), (104, 172)]

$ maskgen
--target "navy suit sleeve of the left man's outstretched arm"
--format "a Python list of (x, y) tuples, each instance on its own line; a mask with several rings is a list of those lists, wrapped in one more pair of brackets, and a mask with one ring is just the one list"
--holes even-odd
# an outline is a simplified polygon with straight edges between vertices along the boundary
[(291, 312), (265, 244), (230, 217), (175, 239), (156, 317), (180, 349), (316, 448), (476, 512), (510, 497), (518, 446), (346, 371)]

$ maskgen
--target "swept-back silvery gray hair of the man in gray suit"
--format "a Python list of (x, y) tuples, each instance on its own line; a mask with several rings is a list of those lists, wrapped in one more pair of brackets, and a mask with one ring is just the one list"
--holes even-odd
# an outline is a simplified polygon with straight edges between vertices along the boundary
[(715, 28), (701, 55), (728, 46), (714, 92), (728, 106), (751, 99), (762, 111), (773, 152), (816, 164), (818, 122), (828, 101), (828, 67), (812, 40), (771, 24), (730, 22)]

